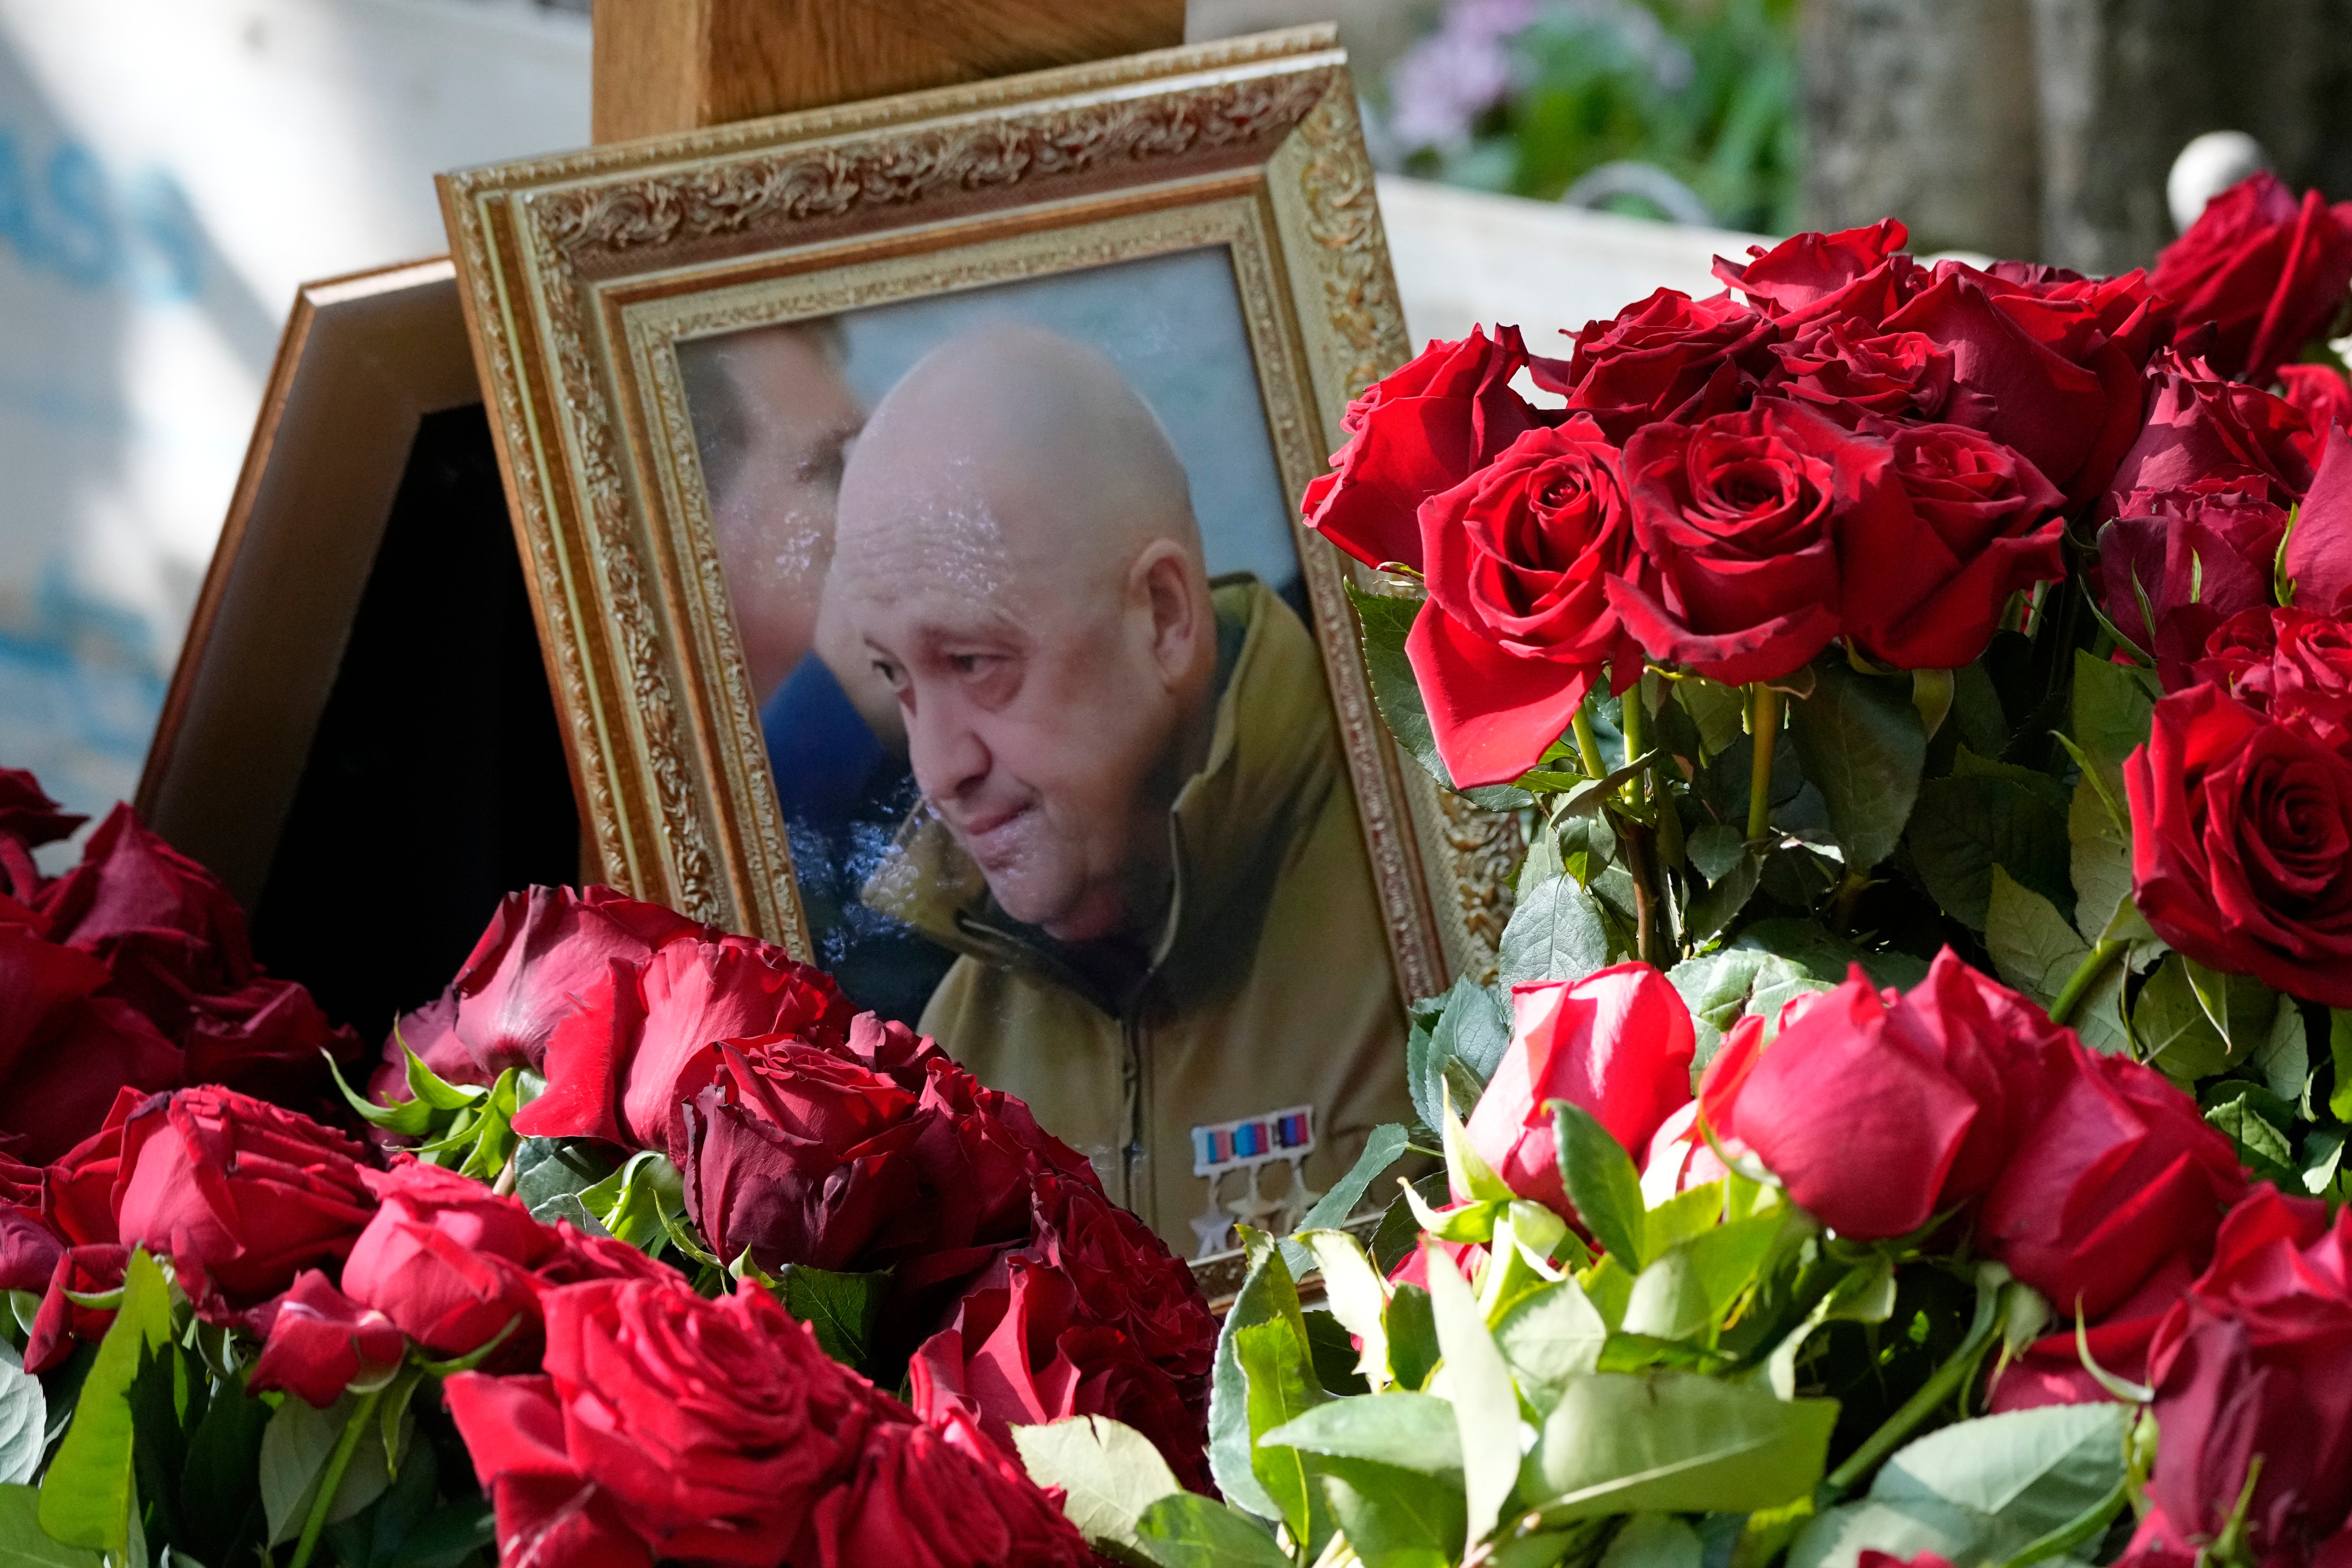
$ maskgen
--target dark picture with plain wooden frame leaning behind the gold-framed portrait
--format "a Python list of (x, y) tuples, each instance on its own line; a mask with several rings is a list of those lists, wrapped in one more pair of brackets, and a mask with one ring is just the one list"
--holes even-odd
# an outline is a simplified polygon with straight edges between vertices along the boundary
[(508, 889), (576, 877), (567, 766), (456, 268), (303, 284), (139, 813), (379, 1039)]

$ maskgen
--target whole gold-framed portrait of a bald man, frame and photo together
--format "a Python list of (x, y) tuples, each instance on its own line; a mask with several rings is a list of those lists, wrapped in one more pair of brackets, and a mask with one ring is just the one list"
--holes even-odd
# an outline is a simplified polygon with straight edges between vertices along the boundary
[(609, 882), (936, 1034), (1188, 1253), (1411, 1119), (1515, 825), (1399, 766), (1296, 524), (1406, 357), (1329, 28), (442, 202)]

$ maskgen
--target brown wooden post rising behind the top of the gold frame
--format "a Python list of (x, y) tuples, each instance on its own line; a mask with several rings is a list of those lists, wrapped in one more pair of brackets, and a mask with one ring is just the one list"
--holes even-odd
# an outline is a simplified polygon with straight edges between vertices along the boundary
[(597, 141), (1167, 49), (1185, 0), (595, 0)]

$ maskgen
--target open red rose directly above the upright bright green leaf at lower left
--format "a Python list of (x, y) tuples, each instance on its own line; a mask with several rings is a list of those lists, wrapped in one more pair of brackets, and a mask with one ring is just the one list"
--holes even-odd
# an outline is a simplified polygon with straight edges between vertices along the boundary
[(115, 1225), (219, 1312), (350, 1253), (376, 1208), (360, 1145), (228, 1088), (155, 1095), (122, 1124)]

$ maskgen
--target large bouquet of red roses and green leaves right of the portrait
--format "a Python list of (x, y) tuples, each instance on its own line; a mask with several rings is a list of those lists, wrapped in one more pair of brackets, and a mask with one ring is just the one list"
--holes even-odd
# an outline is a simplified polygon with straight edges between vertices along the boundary
[(1414, 1009), (1446, 1173), (1251, 1239), (1223, 1505), (1098, 1547), (2352, 1563), (2352, 209), (1903, 240), (1348, 411), (1308, 522), (1517, 910)]

